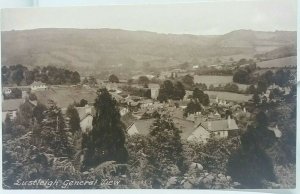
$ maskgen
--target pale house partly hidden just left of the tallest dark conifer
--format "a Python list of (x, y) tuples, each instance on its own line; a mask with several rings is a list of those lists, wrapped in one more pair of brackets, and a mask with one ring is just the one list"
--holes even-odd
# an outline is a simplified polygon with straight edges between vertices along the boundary
[(85, 107), (76, 107), (80, 119), (80, 128), (82, 133), (87, 133), (93, 128), (93, 116), (95, 109), (93, 106), (86, 105)]

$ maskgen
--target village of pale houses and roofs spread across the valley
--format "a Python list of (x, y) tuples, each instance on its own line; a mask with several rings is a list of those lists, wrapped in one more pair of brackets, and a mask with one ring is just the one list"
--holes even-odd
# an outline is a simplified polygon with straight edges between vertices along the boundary
[[(194, 68), (198, 68), (198, 66), (193, 66)], [(157, 79), (162, 83), (165, 80), (184, 76), (191, 77), (192, 81), (199, 79), (199, 75), (190, 76), (186, 70), (182, 69), (162, 72), (157, 76)], [(189, 142), (205, 143), (212, 137), (228, 138), (238, 136), (252, 122), (251, 113), (248, 111), (253, 106), (253, 96), (251, 94), (205, 90), (204, 93), (208, 95), (209, 103), (205, 106), (201, 105), (201, 111), (196, 110), (185, 113), (188, 104), (193, 100), (194, 91), (192, 89), (197, 88), (197, 84), (201, 83), (193, 81), (195, 86), (189, 87), (190, 90), (184, 90), (182, 99), (167, 99), (161, 102), (158, 100), (160, 84), (150, 83), (149, 81), (154, 77), (154, 75), (137, 75), (133, 76), (130, 82), (128, 80), (97, 79), (92, 84), (88, 80), (95, 80), (94, 78), (81, 77), (81, 82), (76, 85), (47, 85), (41, 81), (34, 81), (28, 86), (3, 87), (2, 122), (5, 122), (7, 117), (12, 121), (16, 119), (19, 107), (24, 103), (28, 103), (32, 107), (37, 106), (38, 103), (47, 106), (49, 100), (52, 100), (61, 108), (64, 115), (68, 106), (77, 103), (75, 107), (80, 118), (81, 132), (89, 133), (93, 128), (92, 121), (95, 114), (93, 104), (99, 88), (107, 88), (111, 96), (118, 102), (120, 115), (129, 136), (135, 134), (147, 135), (157, 112), (165, 112), (170, 115), (176, 127), (181, 131), (182, 140)], [(148, 81), (139, 83), (140, 79)], [(212, 81), (215, 79), (214, 76), (209, 79), (210, 87), (221, 86), (220, 83)], [(280, 89), (284, 95), (288, 95), (291, 90), (288, 87), (281, 88), (272, 84), (265, 92), (259, 94), (259, 103), (275, 102), (276, 99), (269, 98), (271, 91), (274, 89)], [(12, 93), (16, 93), (15, 90), (20, 95), (7, 98), (14, 96)], [(229, 93), (229, 96), (224, 95), (224, 93)], [(231, 95), (237, 95), (238, 97), (232, 97)], [(278, 129), (277, 123), (272, 123), (269, 130), (273, 131), (277, 138), (281, 137), (281, 131)]]

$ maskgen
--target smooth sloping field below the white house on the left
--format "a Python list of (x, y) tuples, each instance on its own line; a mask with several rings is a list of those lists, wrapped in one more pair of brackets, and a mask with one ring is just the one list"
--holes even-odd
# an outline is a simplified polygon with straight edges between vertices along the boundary
[(34, 93), (41, 103), (47, 105), (48, 100), (53, 100), (61, 108), (66, 108), (81, 99), (93, 103), (96, 98), (95, 91), (84, 87), (51, 87), (45, 91), (35, 91)]

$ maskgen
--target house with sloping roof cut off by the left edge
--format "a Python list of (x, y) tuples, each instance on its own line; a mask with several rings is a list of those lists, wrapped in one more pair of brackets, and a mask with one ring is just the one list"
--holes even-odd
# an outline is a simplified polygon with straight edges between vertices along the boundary
[(24, 99), (8, 99), (2, 101), (2, 122), (5, 121), (7, 116), (14, 120), (17, 117), (17, 111), (21, 104), (25, 101)]

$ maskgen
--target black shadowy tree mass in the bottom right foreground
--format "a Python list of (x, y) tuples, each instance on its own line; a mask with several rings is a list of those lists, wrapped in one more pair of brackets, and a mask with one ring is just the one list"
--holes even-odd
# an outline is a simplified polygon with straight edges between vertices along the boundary
[[(265, 120), (263, 114), (259, 113), (256, 118)], [(262, 188), (264, 180), (276, 181), (272, 160), (265, 151), (274, 143), (275, 136), (266, 128), (266, 121), (258, 123), (242, 135), (240, 149), (228, 161), (228, 173), (232, 178), (251, 189)]]

